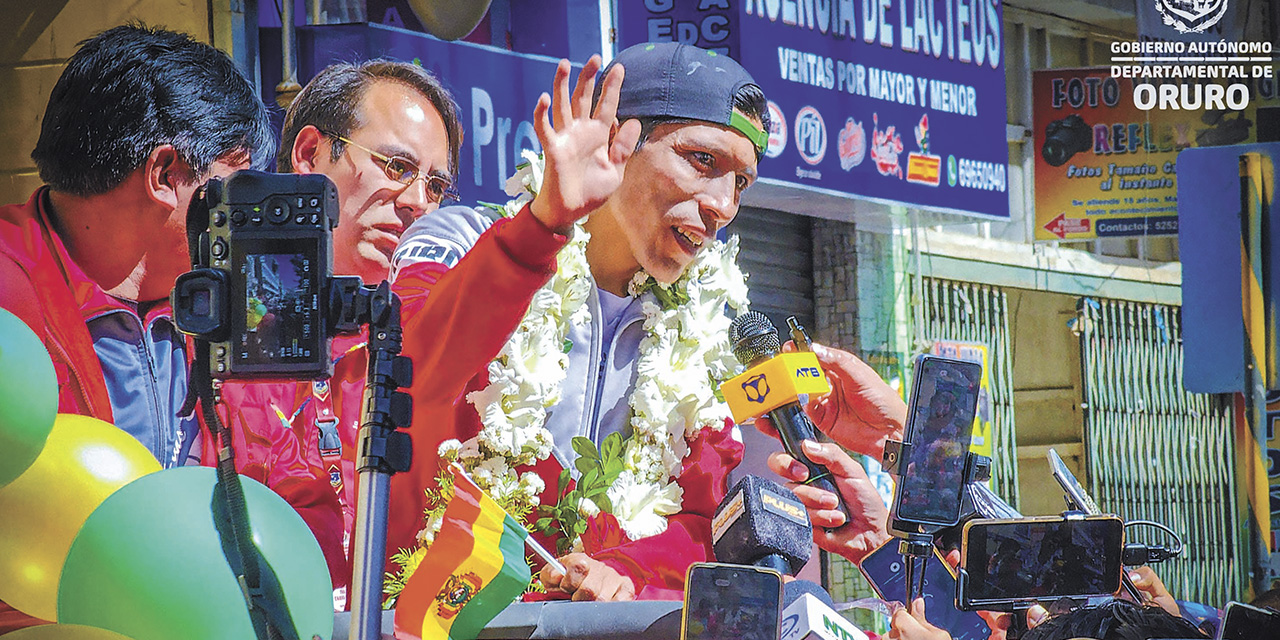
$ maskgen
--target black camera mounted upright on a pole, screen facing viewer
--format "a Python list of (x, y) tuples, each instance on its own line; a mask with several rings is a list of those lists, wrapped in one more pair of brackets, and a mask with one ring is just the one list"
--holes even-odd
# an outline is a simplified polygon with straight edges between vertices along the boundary
[(178, 329), (207, 340), (210, 376), (326, 378), (338, 189), (321, 174), (210, 179), (187, 211), (192, 270)]

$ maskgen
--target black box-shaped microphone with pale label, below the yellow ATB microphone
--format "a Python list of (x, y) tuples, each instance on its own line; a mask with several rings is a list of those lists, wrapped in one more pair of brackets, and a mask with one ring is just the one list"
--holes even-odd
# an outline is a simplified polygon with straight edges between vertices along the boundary
[(804, 503), (785, 486), (746, 476), (712, 516), (716, 559), (795, 575), (813, 552), (813, 525)]

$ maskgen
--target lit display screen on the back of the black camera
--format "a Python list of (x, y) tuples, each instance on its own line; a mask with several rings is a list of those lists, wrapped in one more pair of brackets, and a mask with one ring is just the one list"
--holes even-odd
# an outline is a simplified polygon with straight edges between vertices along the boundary
[(315, 250), (283, 238), (253, 238), (242, 246), (232, 259), (236, 366), (252, 371), (312, 362), (323, 339)]

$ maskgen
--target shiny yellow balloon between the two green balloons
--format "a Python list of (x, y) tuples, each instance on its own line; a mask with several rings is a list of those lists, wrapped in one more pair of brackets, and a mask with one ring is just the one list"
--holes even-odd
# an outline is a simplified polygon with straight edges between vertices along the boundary
[(156, 458), (132, 435), (88, 416), (59, 413), (44, 451), (0, 488), (0, 600), (55, 620), (63, 562), (90, 513)]

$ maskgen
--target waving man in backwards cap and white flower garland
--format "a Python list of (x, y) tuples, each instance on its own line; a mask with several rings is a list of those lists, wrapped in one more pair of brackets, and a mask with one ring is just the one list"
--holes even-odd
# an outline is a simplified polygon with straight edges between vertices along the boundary
[[(669, 404), (666, 397), (637, 398), (637, 376), (650, 375), (639, 364), (660, 348), (648, 332), (662, 320), (653, 312), (654, 291), (637, 293), (631, 284), (637, 274), (658, 288), (676, 282), (733, 219), (756, 177), (768, 110), (745, 69), (701, 49), (630, 47), (593, 91), (599, 68), (598, 58), (588, 61), (571, 93), (570, 65), (561, 61), (554, 99), (539, 101), (534, 123), (545, 173), (530, 205), (497, 221), (479, 210), (442, 209), (415, 223), (397, 250), (415, 413), (413, 468), (392, 477), (390, 548), (412, 544), (422, 529), (422, 490), (435, 484), (442, 440), (460, 440), (463, 457), (488, 442), (499, 456), (476, 466), (476, 479), (499, 493), (541, 494), (541, 504), (552, 506), (561, 468), (573, 470), (582, 451), (575, 436), (608, 456), (611, 434), (640, 431), (637, 402), (652, 399), (646, 411)], [(590, 239), (581, 250), (570, 247), (568, 262), (585, 260), (586, 268), (557, 274), (557, 252), (582, 219)], [(588, 283), (581, 300), (544, 289), (553, 275)], [(563, 344), (512, 347), (513, 332), (541, 332), (540, 319), (567, 308), (562, 303), (585, 314), (564, 320)], [(710, 315), (722, 311), (723, 303)], [(526, 314), (536, 316), (527, 325)], [(522, 383), (503, 388), (502, 378)], [(701, 385), (707, 379), (705, 372), (689, 378)], [(713, 393), (707, 388), (701, 399), (712, 402)], [(568, 575), (543, 570), (549, 591), (591, 600), (678, 599), (689, 564), (712, 558), (710, 516), (741, 444), (726, 419), (704, 428), (709, 413), (657, 412), (666, 415), (646, 415), (669, 420), (662, 430), (669, 436), (623, 445), (636, 456), (609, 486), (611, 516), (595, 517), (591, 500), (566, 506), (591, 525), (582, 552), (562, 558)], [(444, 449), (457, 454), (458, 447)], [(659, 466), (659, 479), (646, 475)]]

